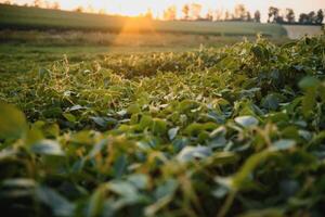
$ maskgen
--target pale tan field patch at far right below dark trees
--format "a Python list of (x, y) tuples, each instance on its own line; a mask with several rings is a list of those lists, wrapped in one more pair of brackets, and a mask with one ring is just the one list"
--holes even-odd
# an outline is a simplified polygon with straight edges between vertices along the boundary
[(299, 39), (303, 36), (320, 36), (323, 33), (322, 26), (284, 25), (284, 28), (290, 39)]

